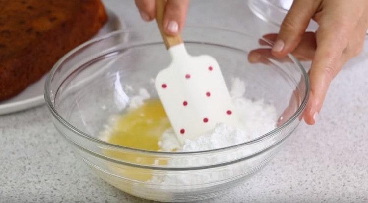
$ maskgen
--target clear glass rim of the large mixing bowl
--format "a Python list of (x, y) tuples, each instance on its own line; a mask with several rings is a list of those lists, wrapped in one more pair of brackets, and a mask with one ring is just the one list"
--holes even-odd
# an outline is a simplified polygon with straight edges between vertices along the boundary
[[(231, 32), (231, 33), (237, 33), (243, 36), (246, 36), (248, 38), (254, 38), (254, 39), (263, 39), (264, 41), (266, 41), (267, 43), (269, 43), (269, 45), (273, 45), (273, 42), (263, 38), (263, 37), (259, 37), (259, 36), (253, 36), (250, 34), (247, 34), (245, 32), (241, 32), (241, 31), (237, 31), (237, 30), (230, 30), (230, 29), (224, 29), (224, 28), (219, 28), (219, 27), (199, 27), (199, 26), (186, 26), (187, 29), (212, 29), (212, 30), (217, 30), (217, 31), (226, 31), (226, 32)], [(221, 151), (226, 151), (226, 150), (230, 150), (230, 149), (236, 149), (238, 147), (242, 147), (245, 145), (251, 145), (254, 143), (258, 143), (261, 142), (265, 139), (267, 139), (268, 137), (271, 137), (275, 134), (277, 134), (278, 132), (282, 131), (283, 129), (287, 128), (289, 126), (290, 123), (292, 123), (295, 119), (298, 119), (298, 117), (300, 116), (300, 114), (304, 111), (304, 108), (306, 107), (308, 98), (309, 98), (309, 92), (310, 92), (310, 84), (309, 84), (309, 78), (308, 78), (308, 74), (306, 72), (306, 70), (304, 69), (304, 67), (301, 65), (301, 63), (291, 54), (288, 54), (287, 56), (292, 60), (292, 62), (294, 63), (294, 65), (296, 65), (301, 74), (302, 77), (305, 81), (305, 97), (302, 99), (298, 109), (295, 111), (295, 113), (289, 117), (289, 119), (283, 123), (282, 125), (276, 127), (275, 129), (273, 129), (272, 131), (269, 131), (268, 133), (259, 136), (253, 140), (244, 142), (244, 143), (240, 143), (237, 145), (231, 145), (231, 146), (227, 146), (227, 147), (222, 147), (222, 148), (218, 148), (218, 149), (211, 149), (211, 150), (203, 150), (203, 151), (190, 151), (190, 152), (165, 152), (165, 151), (151, 151), (151, 150), (145, 150), (145, 149), (137, 149), (137, 148), (131, 148), (131, 147), (125, 147), (125, 146), (121, 146), (121, 145), (115, 145), (112, 143), (108, 143), (105, 142), (103, 140), (100, 140), (96, 137), (93, 137), (91, 135), (89, 135), (88, 133), (85, 133), (81, 130), (79, 130), (78, 128), (74, 127), (72, 124), (70, 124), (67, 120), (65, 120), (62, 116), (60, 116), (60, 114), (58, 114), (57, 110), (54, 108), (53, 102), (51, 101), (50, 98), (50, 84), (51, 84), (51, 80), (53, 79), (53, 76), (55, 74), (55, 72), (58, 70), (58, 67), (65, 61), (65, 59), (69, 58), (70, 56), (72, 56), (73, 54), (75, 54), (76, 52), (78, 52), (81, 48), (86, 47), (91, 45), (92, 43), (107, 39), (109, 37), (112, 37), (114, 35), (119, 35), (119, 34), (123, 34), (123, 33), (130, 33), (130, 32), (139, 32), (141, 31), (140, 29), (137, 28), (130, 28), (130, 29), (125, 29), (125, 30), (117, 30), (117, 31), (113, 31), (110, 32), (108, 34), (105, 34), (101, 37), (97, 37), (94, 39), (91, 39), (89, 41), (86, 41), (84, 43), (82, 43), (81, 45), (77, 46), (76, 48), (74, 48), (73, 50), (71, 50), (70, 52), (68, 52), (66, 55), (64, 55), (62, 58), (60, 58), (54, 65), (53, 68), (51, 69), (49, 75), (47, 76), (47, 79), (45, 81), (45, 87), (44, 87), (44, 97), (45, 97), (45, 101), (46, 101), (46, 105), (48, 106), (50, 112), (52, 113), (52, 115), (56, 118), (56, 120), (61, 123), (62, 125), (64, 125), (68, 130), (74, 132), (75, 134), (77, 134), (78, 136), (81, 136), (83, 138), (86, 138), (94, 143), (98, 143), (98, 144), (102, 144), (102, 145), (106, 145), (108, 147), (111, 148), (116, 148), (119, 150), (125, 150), (125, 151), (134, 151), (134, 152), (138, 152), (138, 153), (146, 153), (146, 154), (150, 154), (150, 155), (168, 155), (168, 156), (180, 156), (180, 155), (200, 155), (200, 154), (207, 154), (207, 153), (212, 153), (212, 152), (221, 152)], [(184, 40), (185, 42), (185, 40)], [(163, 42), (162, 42), (163, 43)], [(287, 136), (285, 136), (282, 140), (284, 140)], [(69, 139), (68, 139), (69, 140)], [(70, 140), (71, 142), (74, 143), (74, 141)], [(78, 145), (77, 143), (74, 143), (76, 145)], [(277, 145), (279, 144), (279, 142), (274, 143), (273, 145)], [(270, 145), (264, 149), (268, 149), (271, 148), (273, 145)], [(78, 145), (79, 147), (82, 147), (80, 145)], [(82, 147), (85, 150), (88, 150), (89, 152), (92, 152), (94, 154), (97, 154), (93, 151), (91, 151), (90, 149), (86, 149), (84, 147)], [(261, 151), (264, 151), (261, 150)], [(248, 155), (246, 157), (251, 157), (252, 155)], [(105, 158), (108, 158), (106, 156), (103, 156)], [(243, 157), (243, 158), (246, 158)], [(126, 164), (126, 162), (124, 162)], [(134, 164), (133, 164), (134, 165)]]

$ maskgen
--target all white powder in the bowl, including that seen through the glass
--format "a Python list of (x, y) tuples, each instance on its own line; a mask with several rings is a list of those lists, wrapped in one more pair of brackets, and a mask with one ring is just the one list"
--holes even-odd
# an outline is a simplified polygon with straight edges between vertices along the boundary
[[(232, 145), (241, 144), (262, 136), (276, 128), (276, 109), (273, 105), (266, 104), (262, 99), (252, 101), (244, 97), (245, 84), (238, 78), (232, 81), (230, 95), (235, 108), (235, 113), (240, 120), (241, 126), (233, 127), (219, 123), (210, 131), (201, 135), (196, 140), (184, 140), (184, 145), (180, 145), (172, 129), (167, 130), (158, 143), (163, 151), (190, 152), (218, 149)], [(227, 151), (217, 155), (186, 158), (175, 158), (167, 161), (168, 166), (190, 167), (200, 165), (212, 165), (223, 163), (228, 160), (235, 160), (255, 153), (269, 145), (262, 142), (258, 145), (249, 146), (241, 151)], [(219, 168), (206, 170), (196, 170), (193, 172), (183, 171), (175, 174), (154, 174), (148, 181), (157, 185), (166, 186), (189, 186), (203, 185), (242, 176), (246, 172), (254, 170), (258, 163), (254, 160), (239, 162)], [(167, 194), (174, 194), (174, 191), (167, 191)]]

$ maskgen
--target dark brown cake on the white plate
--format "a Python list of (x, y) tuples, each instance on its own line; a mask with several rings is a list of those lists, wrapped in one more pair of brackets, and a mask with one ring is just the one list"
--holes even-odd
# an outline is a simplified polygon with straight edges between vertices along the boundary
[(100, 0), (0, 0), (0, 101), (39, 80), (106, 20)]

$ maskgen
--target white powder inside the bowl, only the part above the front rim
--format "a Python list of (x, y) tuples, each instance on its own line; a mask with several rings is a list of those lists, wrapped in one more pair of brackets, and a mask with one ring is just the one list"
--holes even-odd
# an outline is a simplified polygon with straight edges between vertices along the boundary
[(162, 151), (189, 152), (218, 149), (253, 140), (276, 127), (276, 109), (263, 100), (251, 101), (244, 98), (245, 84), (233, 79), (230, 95), (241, 126), (233, 127), (219, 123), (196, 140), (184, 140), (180, 145), (172, 129), (167, 130), (158, 145)]

